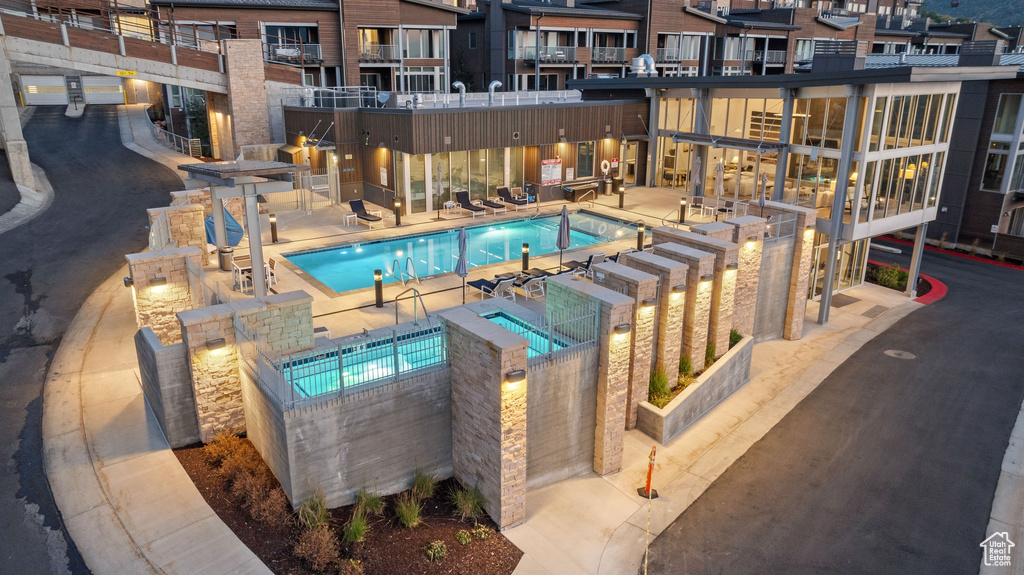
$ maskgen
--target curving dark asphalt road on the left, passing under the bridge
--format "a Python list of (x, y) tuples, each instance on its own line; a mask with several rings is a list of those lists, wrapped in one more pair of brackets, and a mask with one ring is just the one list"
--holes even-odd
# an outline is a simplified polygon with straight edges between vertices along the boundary
[(43, 473), (42, 386), (85, 299), (146, 247), (145, 209), (181, 189), (121, 145), (115, 106), (90, 105), (78, 120), (63, 109), (40, 107), (25, 129), (53, 205), (0, 235), (0, 574), (88, 573)]

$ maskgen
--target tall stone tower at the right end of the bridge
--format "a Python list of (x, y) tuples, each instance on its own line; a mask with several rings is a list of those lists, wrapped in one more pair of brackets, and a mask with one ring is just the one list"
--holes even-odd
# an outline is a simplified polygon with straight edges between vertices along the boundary
[(228, 105), (231, 109), (233, 159), (244, 145), (270, 141), (263, 44), (260, 40), (225, 40), (221, 45), (224, 49)]

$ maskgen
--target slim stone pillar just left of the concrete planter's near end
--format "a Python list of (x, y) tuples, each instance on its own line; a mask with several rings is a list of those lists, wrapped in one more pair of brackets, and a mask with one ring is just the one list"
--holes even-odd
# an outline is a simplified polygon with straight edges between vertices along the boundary
[[(620, 263), (594, 266), (594, 283), (633, 299), (633, 337), (630, 343), (630, 380), (626, 403), (626, 429), (637, 427), (637, 409), (647, 401), (650, 391), (650, 365), (657, 325), (658, 276)], [(647, 305), (649, 303), (649, 305)]]

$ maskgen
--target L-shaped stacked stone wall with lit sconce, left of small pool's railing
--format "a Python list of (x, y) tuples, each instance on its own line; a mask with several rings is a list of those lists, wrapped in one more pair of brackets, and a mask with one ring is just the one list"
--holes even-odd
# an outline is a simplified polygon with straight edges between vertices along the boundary
[(245, 430), (236, 315), (256, 334), (266, 352), (286, 355), (313, 347), (312, 298), (304, 292), (252, 298), (177, 315), (188, 349), (196, 414), (204, 442), (220, 431)]

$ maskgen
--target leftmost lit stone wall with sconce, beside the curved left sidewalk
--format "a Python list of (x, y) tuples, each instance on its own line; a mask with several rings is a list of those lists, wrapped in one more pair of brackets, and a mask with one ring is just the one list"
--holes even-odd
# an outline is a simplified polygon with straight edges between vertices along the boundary
[(202, 257), (203, 253), (193, 247), (125, 256), (132, 279), (135, 323), (139, 328), (153, 328), (165, 346), (181, 342), (176, 314), (191, 309), (195, 302), (185, 262), (191, 260), (199, 266)]

